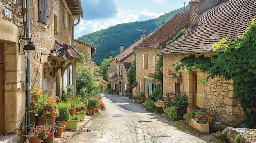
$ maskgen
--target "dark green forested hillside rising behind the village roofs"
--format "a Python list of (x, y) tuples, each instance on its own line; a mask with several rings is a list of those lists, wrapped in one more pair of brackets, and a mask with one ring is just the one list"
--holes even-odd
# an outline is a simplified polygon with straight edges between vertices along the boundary
[(189, 5), (185, 8), (182, 7), (166, 13), (159, 18), (118, 24), (107, 29), (83, 35), (79, 37), (78, 40), (97, 48), (97, 52), (93, 56), (93, 60), (99, 66), (102, 59), (108, 59), (109, 56), (115, 57), (120, 53), (120, 44), (124, 44), (125, 50), (134, 43), (134, 40), (138, 41), (141, 38), (141, 31), (137, 31), (136, 29), (145, 30), (146, 37), (150, 33), (156, 31), (159, 26), (163, 26), (173, 18), (176, 13), (184, 11), (184, 9), (189, 9)]

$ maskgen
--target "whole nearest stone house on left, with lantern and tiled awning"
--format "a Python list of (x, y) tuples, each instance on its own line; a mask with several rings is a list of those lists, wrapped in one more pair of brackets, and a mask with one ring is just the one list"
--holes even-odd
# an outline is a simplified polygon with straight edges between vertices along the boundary
[[(59, 96), (62, 82), (72, 81), (63, 75), (81, 59), (69, 46), (74, 20), (81, 16), (80, 0), (1, 0), (0, 142), (23, 142), (31, 86)], [(37, 47), (36, 59), (24, 55), (29, 40)]]

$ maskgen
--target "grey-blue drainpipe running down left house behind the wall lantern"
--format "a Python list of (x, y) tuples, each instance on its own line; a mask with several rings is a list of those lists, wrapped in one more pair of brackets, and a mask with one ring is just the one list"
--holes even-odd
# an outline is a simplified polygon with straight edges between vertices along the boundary
[[(30, 19), (29, 19), (29, 5), (30, 1), (27, 0), (26, 1), (26, 7), (27, 7), (27, 13), (26, 13), (26, 21), (27, 21), (27, 38), (30, 38)], [(30, 99), (31, 99), (31, 59), (27, 59), (27, 83), (26, 83), (26, 87), (27, 87), (27, 106), (30, 106)], [(27, 117), (27, 121), (26, 121), (26, 134), (28, 132), (28, 126), (30, 124), (30, 115), (26, 113), (26, 117)]]

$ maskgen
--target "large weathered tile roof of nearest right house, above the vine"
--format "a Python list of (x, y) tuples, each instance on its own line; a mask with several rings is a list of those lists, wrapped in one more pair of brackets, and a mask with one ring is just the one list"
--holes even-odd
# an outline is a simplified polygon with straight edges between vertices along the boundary
[(251, 19), (256, 18), (255, 0), (222, 1), (216, 7), (199, 15), (198, 26), (187, 28), (172, 44), (157, 55), (182, 53), (209, 53), (211, 46), (228, 37), (227, 43), (242, 35)]

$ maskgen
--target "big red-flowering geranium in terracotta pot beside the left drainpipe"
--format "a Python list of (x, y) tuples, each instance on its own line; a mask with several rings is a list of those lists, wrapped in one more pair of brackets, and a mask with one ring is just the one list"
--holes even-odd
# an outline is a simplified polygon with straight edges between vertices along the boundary
[(34, 115), (37, 119), (36, 124), (42, 125), (53, 123), (55, 121), (55, 113), (58, 97), (52, 94), (43, 94), (41, 90), (32, 88), (31, 90), (31, 103), (27, 107), (28, 114)]

